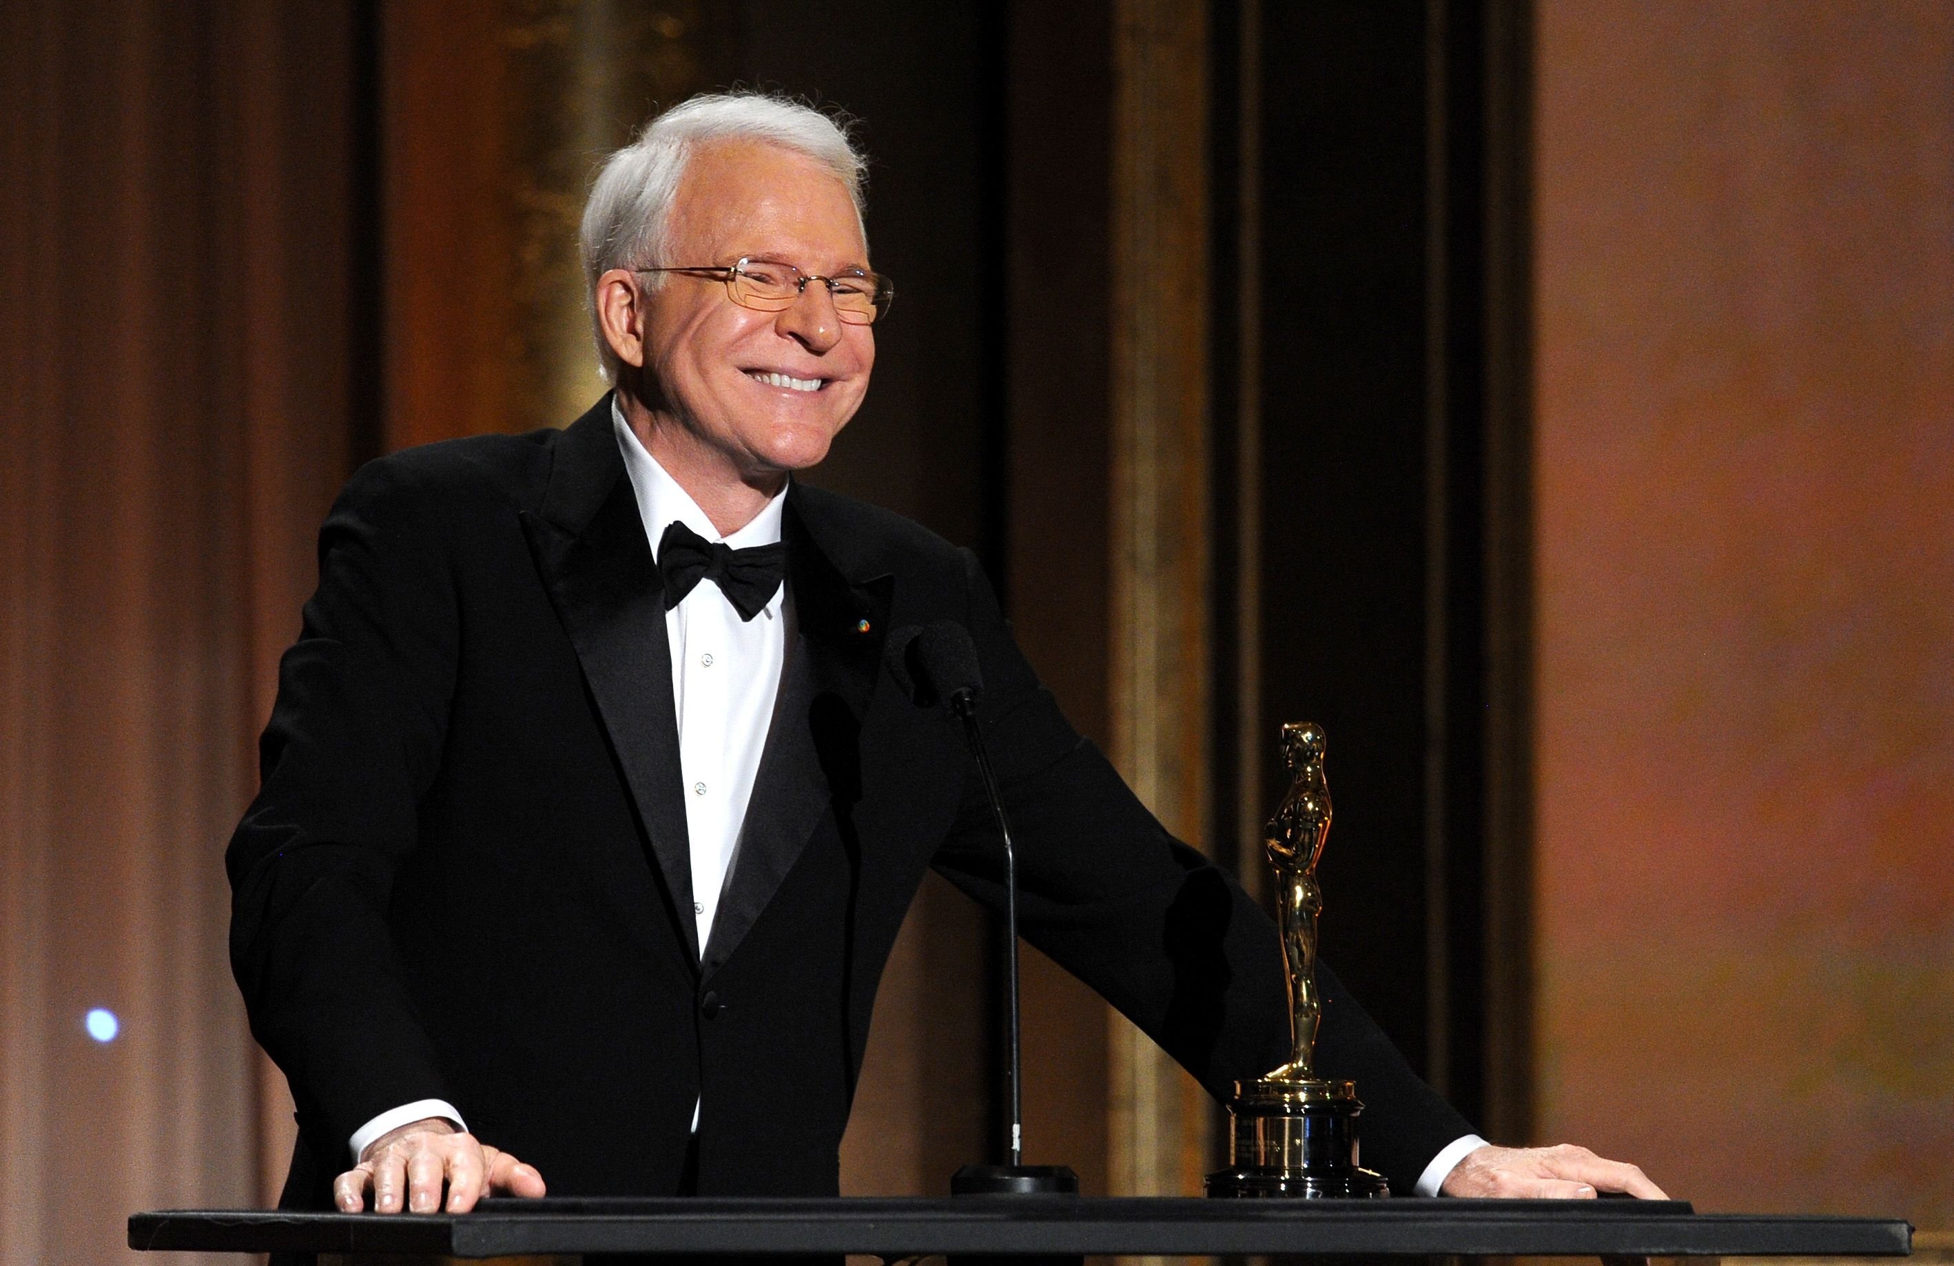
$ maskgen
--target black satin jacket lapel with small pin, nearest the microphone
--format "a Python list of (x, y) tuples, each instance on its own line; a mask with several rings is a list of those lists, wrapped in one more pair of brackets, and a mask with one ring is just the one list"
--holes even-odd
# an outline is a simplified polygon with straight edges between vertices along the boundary
[(705, 975), (733, 957), (823, 815), (832, 807), (846, 821), (862, 799), (862, 717), (881, 666), (895, 578), (844, 576), (807, 531), (791, 494), (782, 535), (799, 633), (782, 666), (780, 705), (705, 942)]

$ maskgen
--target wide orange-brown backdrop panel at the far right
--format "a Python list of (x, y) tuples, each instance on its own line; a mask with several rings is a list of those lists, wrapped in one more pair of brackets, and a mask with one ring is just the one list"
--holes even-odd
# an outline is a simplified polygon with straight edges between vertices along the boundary
[(1954, 8), (1538, 39), (1540, 1137), (1946, 1231)]

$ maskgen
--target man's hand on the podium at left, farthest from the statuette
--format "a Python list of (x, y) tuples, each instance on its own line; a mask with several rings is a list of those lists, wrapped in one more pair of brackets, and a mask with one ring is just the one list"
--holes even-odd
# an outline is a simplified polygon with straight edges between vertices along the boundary
[(375, 1213), (434, 1213), (447, 1186), (447, 1213), (467, 1213), (483, 1196), (543, 1196), (543, 1176), (506, 1151), (455, 1133), (440, 1118), (389, 1129), (367, 1143), (360, 1164), (332, 1180), (332, 1202), (342, 1213), (365, 1207), (373, 1194)]

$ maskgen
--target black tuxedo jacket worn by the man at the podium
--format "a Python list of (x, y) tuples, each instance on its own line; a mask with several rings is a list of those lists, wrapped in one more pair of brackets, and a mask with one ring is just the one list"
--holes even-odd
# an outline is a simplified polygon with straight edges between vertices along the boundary
[[(922, 871), (1002, 905), (952, 717), (881, 666), (956, 619), (1020, 852), (1026, 940), (1210, 1090), (1288, 1055), (1270, 920), (1059, 715), (967, 551), (793, 485), (799, 621), (711, 938), (696, 942), (662, 590), (610, 401), (565, 432), (395, 453), (348, 483), (229, 854), (252, 1032), (291, 1080), (285, 1202), (346, 1139), (455, 1104), (551, 1194), (836, 1190), (875, 983)], [(1466, 1123), (1325, 973), (1327, 1073), (1409, 1190)], [(1036, 1076), (1036, 1071), (1034, 1071)]]

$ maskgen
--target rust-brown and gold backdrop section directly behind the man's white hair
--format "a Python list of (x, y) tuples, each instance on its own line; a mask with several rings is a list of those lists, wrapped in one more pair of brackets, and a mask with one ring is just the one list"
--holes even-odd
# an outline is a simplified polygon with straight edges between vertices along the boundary
[(739, 78), (700, 0), (399, 0), (377, 10), (387, 447), (563, 426), (604, 391), (576, 225), (594, 164)]

